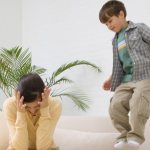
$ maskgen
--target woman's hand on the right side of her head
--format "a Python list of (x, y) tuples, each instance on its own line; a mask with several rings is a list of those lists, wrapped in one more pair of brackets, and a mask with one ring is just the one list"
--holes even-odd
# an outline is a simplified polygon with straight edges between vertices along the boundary
[(44, 92), (42, 93), (42, 101), (38, 102), (40, 108), (44, 108), (48, 106), (49, 94), (50, 94), (50, 89), (48, 87), (45, 87)]

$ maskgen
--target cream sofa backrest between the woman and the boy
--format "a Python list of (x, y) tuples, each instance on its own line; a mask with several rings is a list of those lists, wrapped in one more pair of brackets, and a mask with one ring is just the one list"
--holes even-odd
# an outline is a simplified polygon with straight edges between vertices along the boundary
[(117, 132), (106, 116), (61, 116), (57, 128), (88, 132)]

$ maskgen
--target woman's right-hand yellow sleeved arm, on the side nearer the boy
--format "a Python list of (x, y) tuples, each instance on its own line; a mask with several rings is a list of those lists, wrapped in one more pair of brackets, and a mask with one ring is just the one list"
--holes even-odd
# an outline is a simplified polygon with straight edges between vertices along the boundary
[(50, 106), (40, 109), (41, 116), (36, 133), (37, 150), (46, 150), (51, 148), (54, 130), (60, 117), (61, 110), (61, 102), (56, 99), (52, 100), (52, 104), (50, 104)]

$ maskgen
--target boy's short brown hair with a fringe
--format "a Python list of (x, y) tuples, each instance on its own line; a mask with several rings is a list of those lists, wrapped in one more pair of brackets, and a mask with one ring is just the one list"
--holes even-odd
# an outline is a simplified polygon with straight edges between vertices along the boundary
[(121, 1), (109, 0), (102, 6), (99, 12), (99, 20), (101, 23), (106, 23), (110, 17), (118, 16), (120, 11), (123, 11), (126, 17), (127, 12), (124, 4)]

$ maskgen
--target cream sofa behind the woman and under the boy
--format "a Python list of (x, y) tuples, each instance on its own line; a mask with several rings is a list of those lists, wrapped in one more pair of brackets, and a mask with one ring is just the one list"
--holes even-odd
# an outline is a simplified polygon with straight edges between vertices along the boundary
[[(113, 142), (117, 136), (109, 117), (100, 116), (62, 116), (54, 134), (60, 150), (115, 150)], [(140, 150), (149, 150), (150, 120), (145, 136), (146, 141)], [(0, 150), (6, 150), (7, 145), (8, 130), (0, 112)]]

